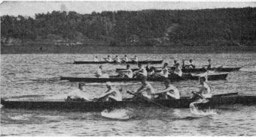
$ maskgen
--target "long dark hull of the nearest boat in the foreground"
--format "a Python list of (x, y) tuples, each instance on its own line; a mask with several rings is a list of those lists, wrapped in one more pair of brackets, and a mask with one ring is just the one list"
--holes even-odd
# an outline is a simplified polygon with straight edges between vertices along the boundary
[[(169, 108), (189, 108), (194, 100), (181, 98), (180, 100), (147, 100), (137, 101), (112, 101), (112, 102), (66, 102), (66, 101), (8, 101), (1, 100), (1, 104), (6, 109), (52, 109), (52, 110), (72, 110), (82, 112), (98, 112), (104, 109), (118, 109), (125, 107), (156, 107), (156, 103)], [(208, 103), (200, 104), (200, 107), (211, 107), (224, 105), (255, 105), (256, 96), (233, 96), (233, 97), (212, 97)]]

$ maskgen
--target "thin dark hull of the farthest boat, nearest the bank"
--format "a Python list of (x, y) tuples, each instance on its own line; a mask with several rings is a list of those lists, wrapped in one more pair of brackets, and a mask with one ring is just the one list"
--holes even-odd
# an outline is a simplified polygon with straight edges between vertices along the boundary
[(73, 64), (162, 64), (163, 60), (161, 61), (128, 61), (126, 63), (116, 63), (116, 62), (108, 62), (108, 61), (74, 61)]

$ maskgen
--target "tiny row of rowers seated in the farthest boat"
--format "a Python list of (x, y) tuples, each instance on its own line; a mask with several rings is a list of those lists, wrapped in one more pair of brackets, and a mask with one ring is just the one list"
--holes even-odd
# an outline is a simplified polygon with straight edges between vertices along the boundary
[[(129, 60), (129, 58), (127, 58), (127, 55), (124, 55), (123, 58), (119, 58), (118, 55), (115, 56), (115, 58), (111, 58), (110, 55), (108, 55), (107, 58), (103, 58), (105, 61), (108, 62), (115, 62), (115, 63), (126, 63)], [(137, 55), (134, 56), (134, 58), (130, 58), (131, 61), (133, 62), (138, 62), (139, 58), (137, 57)], [(99, 62), (99, 58), (97, 56), (94, 57), (94, 61)]]

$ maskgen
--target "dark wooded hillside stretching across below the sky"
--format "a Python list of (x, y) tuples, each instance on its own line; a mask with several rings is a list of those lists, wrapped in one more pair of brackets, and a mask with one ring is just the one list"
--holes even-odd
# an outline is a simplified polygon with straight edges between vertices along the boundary
[(5, 15), (1, 43), (256, 46), (256, 7)]

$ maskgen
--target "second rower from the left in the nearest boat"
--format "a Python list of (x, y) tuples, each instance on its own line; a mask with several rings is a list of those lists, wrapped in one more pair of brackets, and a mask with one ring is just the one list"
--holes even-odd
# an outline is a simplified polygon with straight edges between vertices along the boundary
[(103, 94), (99, 96), (98, 100), (103, 100), (103, 101), (122, 101), (122, 94), (120, 91), (117, 91), (117, 88), (112, 85), (111, 82), (106, 82), (106, 86), (108, 88), (107, 91), (105, 91)]

